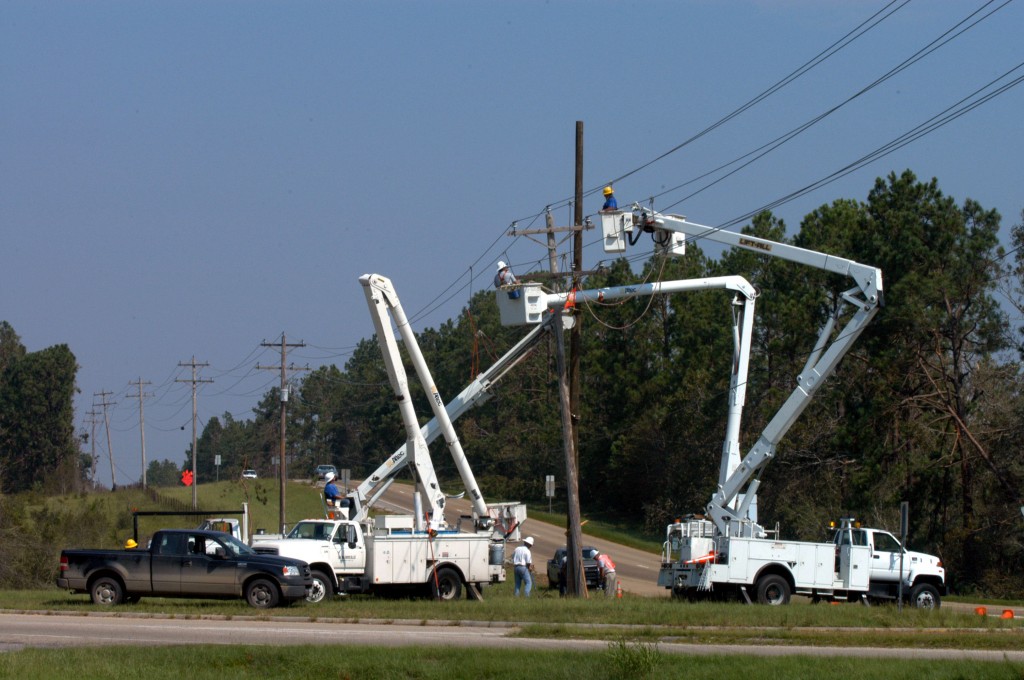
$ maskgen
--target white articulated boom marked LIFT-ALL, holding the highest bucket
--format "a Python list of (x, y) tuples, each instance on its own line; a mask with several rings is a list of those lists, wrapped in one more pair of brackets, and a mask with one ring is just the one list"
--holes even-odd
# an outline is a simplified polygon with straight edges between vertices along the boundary
[[(778, 257), (824, 271), (843, 274), (854, 282), (854, 288), (842, 294), (830, 317), (819, 332), (804, 371), (797, 376), (797, 387), (765, 427), (761, 437), (739, 466), (720, 481), (718, 491), (708, 504), (708, 514), (722, 534), (763, 537), (765, 533), (761, 526), (756, 522), (744, 521), (746, 504), (756, 498), (761, 472), (775, 455), (775, 448), (779, 440), (810, 403), (811, 398), (824, 380), (836, 371), (840, 360), (850, 351), (853, 343), (860, 337), (871, 317), (878, 312), (883, 293), (882, 270), (835, 255), (826, 255), (767, 239), (695, 224), (686, 221), (686, 218), (681, 216), (663, 215), (639, 206), (634, 206), (632, 220), (621, 220), (620, 224), (623, 225), (621, 228), (624, 231), (641, 229), (652, 233), (655, 243), (671, 241), (671, 239), (666, 239), (667, 235), (685, 235), (687, 239), (694, 241), (706, 239), (761, 255)], [(607, 238), (608, 235), (606, 233), (605, 237), (605, 242), (609, 243), (611, 240)], [(846, 325), (836, 333), (836, 327), (847, 306), (854, 308), (853, 314)], [(723, 469), (725, 467), (723, 462)], [(746, 491), (743, 493), (743, 502), (739, 504), (738, 508), (733, 507), (744, 487)]]

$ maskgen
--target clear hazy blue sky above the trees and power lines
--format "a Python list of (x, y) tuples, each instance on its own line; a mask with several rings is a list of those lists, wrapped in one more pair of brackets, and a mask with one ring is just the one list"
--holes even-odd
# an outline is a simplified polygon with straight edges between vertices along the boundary
[[(1002, 4), (12, 0), (0, 7), (0, 318), (30, 350), (75, 352), (80, 431), (93, 394), (114, 393), (115, 478), (134, 481), (129, 381), (152, 383), (147, 458), (180, 463), (191, 401), (175, 380), (193, 355), (214, 381), (199, 390), (201, 426), (248, 418), (279, 381), (255, 368), (280, 362), (261, 342), (284, 332), (306, 343), (291, 362), (341, 366), (372, 334), (360, 274), (390, 277), (421, 330), (488, 286), (496, 260), (546, 266), (539, 245), (504, 235), (548, 205), (569, 221), (575, 121), (588, 189), (629, 174), (621, 205), (656, 196), (723, 224), (1017, 67), (1024, 7)], [(630, 174), (887, 6), (815, 69)], [(778, 150), (693, 196), (707, 180), (668, 190), (849, 99), (983, 7), (976, 19), (996, 11)], [(1022, 98), (1012, 88), (775, 213), (792, 232), (909, 168), (998, 209), (1009, 231), (1024, 208)], [(599, 207), (587, 198), (588, 214)], [(587, 267), (607, 258), (594, 241)]]

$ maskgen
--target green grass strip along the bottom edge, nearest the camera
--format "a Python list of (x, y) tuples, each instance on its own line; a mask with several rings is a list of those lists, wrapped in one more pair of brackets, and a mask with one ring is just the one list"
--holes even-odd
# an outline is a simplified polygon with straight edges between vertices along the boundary
[(135, 680), (233, 678), (460, 678), (530, 677), (591, 680), (624, 678), (735, 678), (816, 680), (851, 677), (880, 680), (1020, 678), (1024, 665), (1009, 662), (896, 661), (856, 656), (758, 657), (666, 653), (656, 645), (613, 641), (592, 652), (523, 651), (447, 646), (189, 646), (24, 649), (0, 654), (0, 678), (53, 677)]

